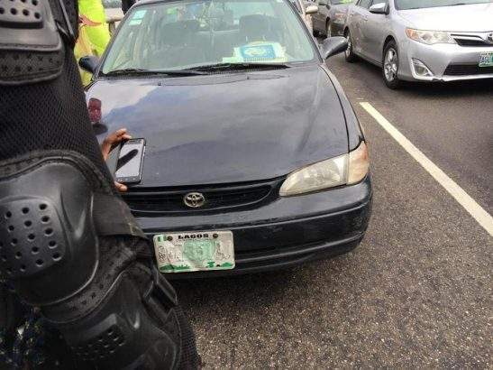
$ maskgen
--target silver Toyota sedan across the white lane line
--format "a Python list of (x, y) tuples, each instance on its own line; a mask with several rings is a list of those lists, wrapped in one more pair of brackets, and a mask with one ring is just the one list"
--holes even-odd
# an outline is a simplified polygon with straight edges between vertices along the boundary
[(402, 80), (493, 78), (493, 0), (358, 0), (350, 5), (346, 60)]

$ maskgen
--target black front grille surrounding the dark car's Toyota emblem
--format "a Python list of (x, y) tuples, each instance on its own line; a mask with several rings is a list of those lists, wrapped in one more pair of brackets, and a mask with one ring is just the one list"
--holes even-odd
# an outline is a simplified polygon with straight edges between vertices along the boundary
[[(123, 194), (135, 216), (159, 216), (169, 213), (200, 213), (254, 208), (264, 201), (278, 197), (282, 179), (254, 183), (200, 186), (194, 188), (134, 188)], [(187, 193), (199, 192), (205, 204), (190, 208), (184, 198)]]

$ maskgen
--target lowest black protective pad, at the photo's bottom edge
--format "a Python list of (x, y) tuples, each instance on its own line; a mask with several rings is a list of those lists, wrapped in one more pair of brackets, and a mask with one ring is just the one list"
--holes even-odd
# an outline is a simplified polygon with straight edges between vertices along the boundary
[[(149, 285), (146, 296), (146, 285), (149, 281), (139, 283), (131, 272), (122, 273), (104, 305), (84, 319), (59, 326), (82, 363), (104, 369), (176, 368), (182, 333), (174, 299), (169, 296), (168, 307), (161, 307), (160, 288)], [(154, 300), (156, 307), (151, 303)]]

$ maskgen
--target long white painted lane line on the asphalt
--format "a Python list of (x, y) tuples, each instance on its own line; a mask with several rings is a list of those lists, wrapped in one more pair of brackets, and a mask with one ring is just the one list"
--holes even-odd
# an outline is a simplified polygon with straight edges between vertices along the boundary
[(445, 172), (440, 170), (434, 162), (430, 161), (413, 143), (407, 140), (406, 136), (401, 134), (394, 125), (390, 124), (387, 118), (382, 116), (370, 103), (363, 102), (360, 103), (360, 105), (370, 114), (370, 116), (375, 118), (377, 123), (379, 123), (379, 125), (381, 125), (383, 129), (416, 160), (416, 162), (421, 164), (423, 168), (433, 176), (434, 180), (437, 180), (438, 183), (443, 186), (443, 189), (447, 190), (450, 195), (452, 195), (452, 197), (470, 213), (470, 216), (478, 221), (481, 227), (484, 227), (490, 236), (493, 236), (493, 217), (491, 217), (484, 208), (479, 206), (476, 200), (470, 198), (468, 193), (457, 185), (454, 180), (448, 177)]

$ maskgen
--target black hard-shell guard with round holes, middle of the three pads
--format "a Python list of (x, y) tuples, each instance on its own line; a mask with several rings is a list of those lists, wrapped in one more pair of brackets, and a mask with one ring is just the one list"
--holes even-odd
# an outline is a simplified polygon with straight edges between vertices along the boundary
[(92, 186), (71, 159), (17, 164), (0, 178), (0, 272), (32, 305), (67, 300), (98, 264)]

